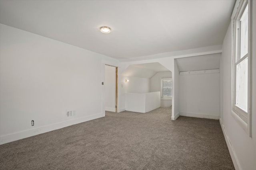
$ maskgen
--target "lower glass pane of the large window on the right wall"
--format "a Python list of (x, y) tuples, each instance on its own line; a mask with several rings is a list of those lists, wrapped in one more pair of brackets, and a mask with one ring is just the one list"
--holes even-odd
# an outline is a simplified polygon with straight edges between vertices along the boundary
[(247, 112), (248, 57), (236, 66), (236, 105)]

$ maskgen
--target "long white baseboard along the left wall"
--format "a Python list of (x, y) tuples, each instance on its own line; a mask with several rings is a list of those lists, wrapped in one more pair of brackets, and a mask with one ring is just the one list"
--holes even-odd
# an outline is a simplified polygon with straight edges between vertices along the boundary
[(31, 130), (28, 130), (28, 131), (22, 131), (22, 132), (18, 132), (18, 133), (12, 133), (10, 135), (1, 136), (0, 137), (0, 145), (5, 144), (5, 143), (9, 143), (9, 142), (13, 142), (13, 141), (17, 141), (17, 140), (20, 140), (20, 139), (24, 139), (24, 138), (27, 138), (27, 137), (32, 137), (34, 135), (39, 135), (41, 133), (54, 131), (54, 130), (57, 130), (57, 129), (61, 129), (63, 127), (75, 125), (75, 124), (82, 123), (82, 122), (85, 122), (85, 121), (98, 119), (100, 117), (102, 117), (102, 113), (98, 113), (98, 114), (90, 115), (90, 116), (85, 116), (85, 117), (80, 117), (80, 118), (77, 118), (77, 119), (72, 119), (72, 120), (64, 121), (64, 122), (60, 122), (60, 123), (55, 123), (55, 124), (52, 124), (52, 125), (47, 125), (47, 126), (39, 127), (39, 128), (36, 128), (36, 129), (31, 129)]

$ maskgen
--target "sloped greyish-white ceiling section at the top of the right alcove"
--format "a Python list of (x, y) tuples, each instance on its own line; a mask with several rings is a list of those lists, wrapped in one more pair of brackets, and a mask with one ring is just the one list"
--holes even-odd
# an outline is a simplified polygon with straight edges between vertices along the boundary
[(213, 70), (220, 68), (221, 54), (200, 55), (176, 59), (180, 72)]

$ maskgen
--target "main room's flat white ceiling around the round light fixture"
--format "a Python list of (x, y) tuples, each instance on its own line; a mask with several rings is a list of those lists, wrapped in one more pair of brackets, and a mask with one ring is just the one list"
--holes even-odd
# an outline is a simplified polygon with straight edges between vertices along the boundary
[[(116, 59), (221, 45), (234, 0), (1, 0), (0, 23)], [(101, 26), (112, 32), (103, 34)]]

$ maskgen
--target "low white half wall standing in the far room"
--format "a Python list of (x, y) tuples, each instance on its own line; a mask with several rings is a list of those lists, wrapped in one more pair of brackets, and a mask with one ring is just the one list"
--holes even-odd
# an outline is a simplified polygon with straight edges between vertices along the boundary
[(160, 107), (160, 92), (126, 93), (125, 99), (127, 111), (146, 113)]

